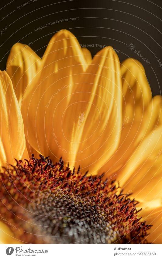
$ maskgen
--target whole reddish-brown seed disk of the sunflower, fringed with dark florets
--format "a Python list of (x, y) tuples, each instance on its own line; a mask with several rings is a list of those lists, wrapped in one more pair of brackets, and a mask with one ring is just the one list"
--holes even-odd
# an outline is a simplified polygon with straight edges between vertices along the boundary
[[(0, 213), (24, 243), (147, 243), (150, 225), (116, 180), (34, 155), (3, 168)], [(19, 229), (16, 230), (16, 229)], [(13, 229), (11, 228), (13, 231)]]

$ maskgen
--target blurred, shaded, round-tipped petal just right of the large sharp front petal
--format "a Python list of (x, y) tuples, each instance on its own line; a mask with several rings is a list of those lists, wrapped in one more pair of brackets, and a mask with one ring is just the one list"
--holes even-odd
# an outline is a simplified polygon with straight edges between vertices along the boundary
[[(123, 92), (121, 136), (120, 134), (116, 136), (116, 139), (120, 138), (118, 150), (101, 169), (107, 174), (111, 174), (112, 171), (123, 167), (144, 137), (146, 128), (144, 127), (143, 129), (142, 125), (146, 125), (146, 120), (148, 121), (148, 106), (152, 102), (151, 90), (145, 70), (139, 61), (136, 59), (124, 60), (121, 64), (120, 77)], [(144, 114), (146, 115), (144, 116)], [(156, 115), (152, 114), (151, 116)], [(149, 127), (147, 134), (149, 134)]]

